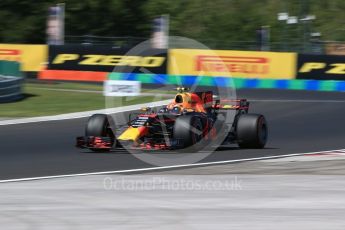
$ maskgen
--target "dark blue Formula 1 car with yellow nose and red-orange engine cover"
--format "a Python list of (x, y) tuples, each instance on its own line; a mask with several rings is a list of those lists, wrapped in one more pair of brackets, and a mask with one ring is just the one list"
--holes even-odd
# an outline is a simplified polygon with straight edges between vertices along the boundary
[[(211, 91), (177, 89), (171, 103), (156, 111), (148, 107), (139, 114), (132, 113), (122, 127), (117, 127), (109, 115), (92, 115), (85, 136), (77, 137), (76, 146), (95, 152), (116, 148), (198, 151), (217, 141), (220, 145), (235, 143), (240, 148), (265, 146), (266, 119), (260, 114), (249, 114), (246, 99), (219, 100)], [(224, 118), (226, 112), (232, 112), (231, 122)]]

